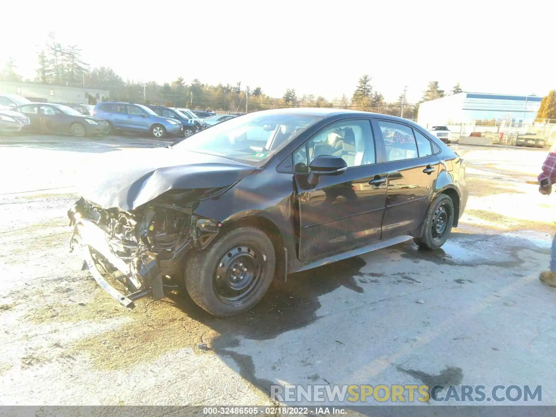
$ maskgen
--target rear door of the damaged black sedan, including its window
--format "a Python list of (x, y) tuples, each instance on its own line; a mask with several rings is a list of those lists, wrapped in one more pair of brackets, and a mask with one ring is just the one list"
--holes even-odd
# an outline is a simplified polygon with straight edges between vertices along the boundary
[(404, 123), (375, 119), (388, 171), (382, 239), (419, 228), (433, 195), (439, 161), (428, 138)]

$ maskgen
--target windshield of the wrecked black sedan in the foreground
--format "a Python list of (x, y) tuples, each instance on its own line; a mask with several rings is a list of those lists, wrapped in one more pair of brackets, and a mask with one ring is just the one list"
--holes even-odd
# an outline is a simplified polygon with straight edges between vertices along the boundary
[(320, 117), (266, 112), (219, 123), (172, 146), (260, 166)]

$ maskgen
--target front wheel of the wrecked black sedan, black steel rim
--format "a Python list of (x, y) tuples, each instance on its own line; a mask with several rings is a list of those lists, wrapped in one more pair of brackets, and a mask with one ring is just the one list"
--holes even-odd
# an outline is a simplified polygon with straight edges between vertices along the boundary
[(274, 246), (265, 232), (239, 227), (210, 249), (195, 252), (185, 268), (185, 287), (191, 299), (210, 314), (232, 316), (261, 300), (275, 266)]

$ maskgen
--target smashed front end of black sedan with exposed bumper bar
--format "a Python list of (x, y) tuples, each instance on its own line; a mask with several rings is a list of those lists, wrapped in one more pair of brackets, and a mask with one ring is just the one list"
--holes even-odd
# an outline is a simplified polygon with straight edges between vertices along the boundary
[[(183, 265), (219, 233), (221, 222), (195, 215), (198, 203), (227, 187), (170, 190), (136, 209), (103, 209), (80, 198), (68, 211), (71, 240), (85, 249), (84, 268), (127, 309), (142, 297), (162, 299), (183, 282)], [(119, 283), (122, 294), (105, 277)]]

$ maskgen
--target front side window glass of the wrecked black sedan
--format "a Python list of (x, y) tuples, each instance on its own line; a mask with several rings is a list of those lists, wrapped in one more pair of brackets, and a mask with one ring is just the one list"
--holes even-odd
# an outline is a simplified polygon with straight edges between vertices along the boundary
[(295, 172), (309, 172), (317, 156), (340, 156), (347, 167), (375, 163), (375, 146), (370, 120), (345, 120), (326, 126), (294, 152)]

